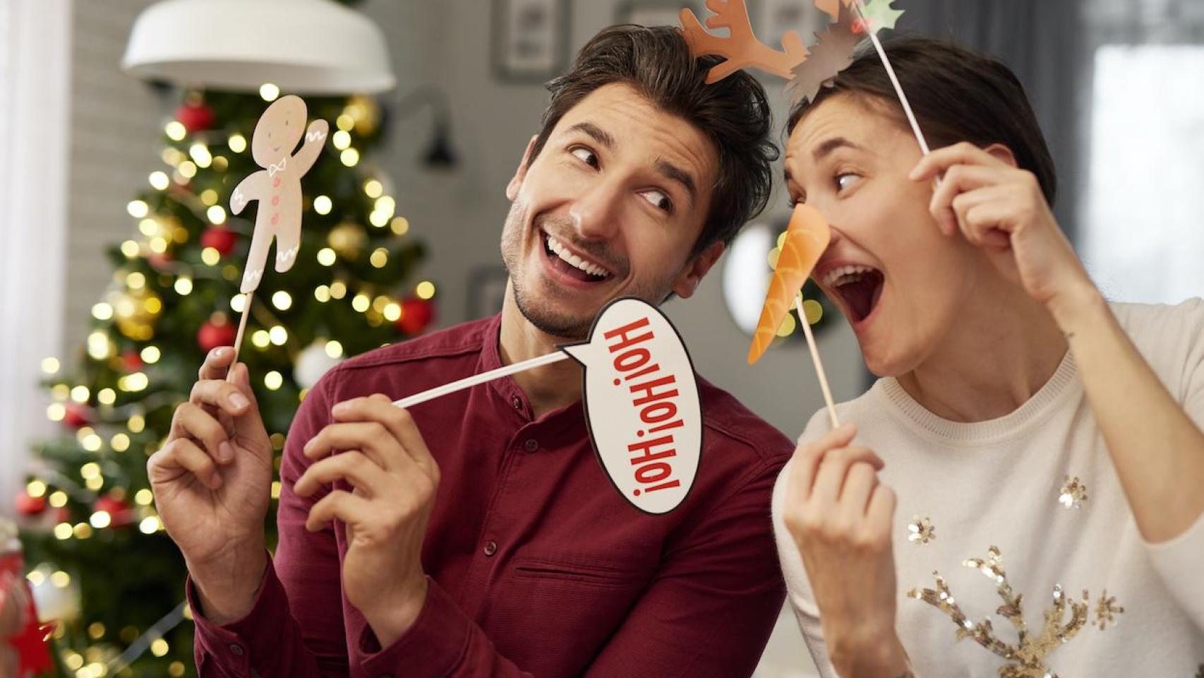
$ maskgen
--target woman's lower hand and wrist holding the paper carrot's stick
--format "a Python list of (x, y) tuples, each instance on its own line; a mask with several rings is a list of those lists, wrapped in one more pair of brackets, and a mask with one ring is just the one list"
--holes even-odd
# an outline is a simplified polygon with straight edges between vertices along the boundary
[(856, 432), (844, 424), (798, 446), (783, 519), (803, 556), (832, 665), (843, 678), (896, 678), (908, 665), (895, 633), (895, 493), (878, 482), (883, 460), (850, 446)]

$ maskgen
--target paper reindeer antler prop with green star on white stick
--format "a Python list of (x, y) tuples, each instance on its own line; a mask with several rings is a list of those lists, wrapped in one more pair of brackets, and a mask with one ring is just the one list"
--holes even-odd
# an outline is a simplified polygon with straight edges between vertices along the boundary
[(878, 40), (878, 31), (893, 29), (903, 11), (891, 7), (895, 0), (869, 0), (868, 4), (862, 4), (862, 0), (813, 1), (820, 11), (832, 17), (832, 23), (822, 35), (815, 35), (818, 42), (810, 49), (803, 46), (798, 31), (795, 30), (783, 35), (781, 51), (759, 41), (752, 35), (752, 23), (744, 0), (707, 0), (707, 10), (714, 14), (707, 18), (707, 28), (726, 28), (730, 30), (727, 37), (708, 33), (689, 8), (683, 8), (678, 16), (691, 54), (718, 55), (725, 59), (707, 73), (708, 83), (719, 82), (744, 67), (757, 69), (789, 81), (787, 90), (795, 101), (814, 99), (825, 82), (849, 67), (854, 48), (861, 42), (862, 34), (868, 34), (878, 51), (878, 58), (881, 59), (895, 86), (903, 111), (907, 112), (911, 131), (915, 132), (920, 148), (927, 155), (928, 143), (920, 131), (907, 95), (903, 94), (903, 87), (895, 76), (886, 51)]

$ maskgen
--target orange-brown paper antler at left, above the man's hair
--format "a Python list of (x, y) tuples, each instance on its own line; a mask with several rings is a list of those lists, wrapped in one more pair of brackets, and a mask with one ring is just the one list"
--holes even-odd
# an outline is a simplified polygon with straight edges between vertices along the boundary
[(752, 23), (744, 0), (707, 0), (707, 8), (715, 14), (707, 17), (707, 26), (726, 28), (731, 31), (728, 37), (708, 33), (689, 8), (683, 8), (678, 17), (681, 19), (681, 31), (690, 45), (691, 54), (695, 57), (714, 54), (726, 59), (710, 69), (707, 73), (708, 83), (719, 82), (743, 67), (759, 69), (791, 79), (795, 77), (795, 66), (807, 59), (807, 47), (803, 46), (797, 31), (790, 30), (781, 36), (781, 46), (785, 49), (783, 52), (757, 40), (752, 35)]

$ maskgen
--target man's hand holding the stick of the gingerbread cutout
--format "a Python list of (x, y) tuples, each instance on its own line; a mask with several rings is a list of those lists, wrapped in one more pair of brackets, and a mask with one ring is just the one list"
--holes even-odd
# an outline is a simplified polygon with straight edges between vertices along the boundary
[(203, 606), (220, 624), (250, 612), (267, 565), (264, 518), (271, 497), (272, 443), (259, 418), (247, 366), (216, 348), (188, 402), (176, 408), (167, 442), (147, 461), (155, 508), (179, 547)]

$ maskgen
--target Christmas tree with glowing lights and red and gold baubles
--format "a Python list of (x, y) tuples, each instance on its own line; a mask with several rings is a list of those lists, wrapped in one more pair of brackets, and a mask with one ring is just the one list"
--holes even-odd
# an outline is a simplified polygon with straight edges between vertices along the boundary
[[(184, 565), (155, 514), (146, 461), (206, 352), (234, 343), (258, 206), (231, 217), (230, 191), (259, 170), (252, 131), (279, 94), (271, 84), (259, 95), (184, 94), (165, 125), (163, 165), (129, 202), (136, 235), (108, 252), (113, 278), (81, 354), (43, 362), (47, 414), (63, 435), (36, 448), (17, 507), (28, 579), (43, 618), (58, 621), (67, 676), (195, 676)], [(265, 275), (240, 355), (277, 454), (306, 389), (344, 355), (421, 332), (435, 295), (417, 276), (423, 247), (370, 165), (383, 134), (377, 102), (307, 105), (332, 134), (302, 179), (296, 264)], [(266, 529), (273, 544), (275, 515)]]

